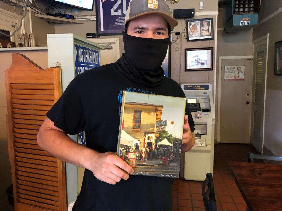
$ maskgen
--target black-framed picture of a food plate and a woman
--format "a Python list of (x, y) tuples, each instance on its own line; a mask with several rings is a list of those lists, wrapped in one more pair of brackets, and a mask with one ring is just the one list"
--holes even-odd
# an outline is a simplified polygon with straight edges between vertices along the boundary
[(186, 21), (187, 42), (213, 40), (213, 18)]

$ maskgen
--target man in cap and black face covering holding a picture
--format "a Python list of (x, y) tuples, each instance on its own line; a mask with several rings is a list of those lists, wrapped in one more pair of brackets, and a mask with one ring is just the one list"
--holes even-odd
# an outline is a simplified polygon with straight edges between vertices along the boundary
[[(85, 168), (81, 192), (73, 211), (171, 210), (173, 178), (130, 175), (133, 169), (116, 156), (121, 90), (143, 90), (185, 97), (179, 84), (163, 76), (160, 67), (169, 45), (169, 27), (177, 25), (164, 1), (132, 0), (125, 23), (125, 53), (107, 64), (75, 77), (47, 113), (38, 132), (38, 144), (58, 159)], [(151, 9), (155, 8), (155, 9)], [(194, 122), (184, 118), (182, 150), (194, 145)], [(189, 123), (188, 123), (189, 121)], [(85, 131), (86, 147), (67, 134)], [(150, 184), (150, 185), (148, 185)], [(137, 206), (128, 191), (144, 190)], [(123, 205), (127, 206), (124, 207)], [(140, 203), (138, 203), (140, 204)]]

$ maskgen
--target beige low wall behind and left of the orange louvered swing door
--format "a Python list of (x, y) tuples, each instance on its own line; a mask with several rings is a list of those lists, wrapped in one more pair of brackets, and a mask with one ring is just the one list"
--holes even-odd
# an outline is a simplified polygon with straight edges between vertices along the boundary
[[(48, 67), (47, 51), (26, 51), (19, 52), (43, 69)], [(0, 207), (1, 210), (13, 210), (9, 206), (6, 188), (12, 183), (11, 167), (8, 157), (7, 130), (6, 130), (6, 88), (5, 88), (5, 69), (9, 69), (12, 64), (12, 52), (0, 51)]]

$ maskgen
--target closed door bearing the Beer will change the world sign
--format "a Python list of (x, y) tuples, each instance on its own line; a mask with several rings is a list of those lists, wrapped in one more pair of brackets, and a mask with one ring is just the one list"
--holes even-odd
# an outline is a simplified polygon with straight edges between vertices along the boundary
[(250, 143), (252, 59), (223, 59), (220, 142)]

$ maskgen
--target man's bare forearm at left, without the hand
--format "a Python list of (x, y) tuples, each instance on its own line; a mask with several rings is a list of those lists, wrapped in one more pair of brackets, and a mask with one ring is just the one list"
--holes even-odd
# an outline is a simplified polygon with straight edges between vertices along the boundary
[(98, 152), (74, 142), (66, 133), (52, 128), (44, 128), (38, 132), (38, 145), (54, 157), (68, 163), (89, 169), (90, 160), (95, 159)]

